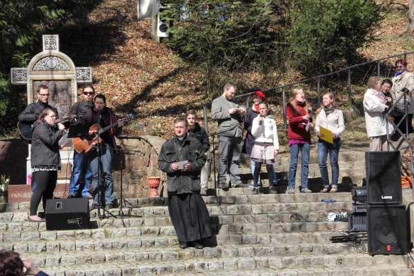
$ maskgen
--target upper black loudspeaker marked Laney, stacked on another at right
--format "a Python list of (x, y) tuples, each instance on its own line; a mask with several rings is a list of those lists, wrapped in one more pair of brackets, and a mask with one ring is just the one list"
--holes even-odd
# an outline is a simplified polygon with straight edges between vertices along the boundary
[(401, 204), (399, 151), (365, 152), (367, 204)]

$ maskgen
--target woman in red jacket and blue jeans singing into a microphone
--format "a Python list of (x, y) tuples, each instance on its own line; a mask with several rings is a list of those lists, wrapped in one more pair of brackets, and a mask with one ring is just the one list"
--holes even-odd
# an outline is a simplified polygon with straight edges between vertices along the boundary
[(308, 189), (309, 152), (311, 151), (312, 108), (306, 103), (304, 90), (294, 88), (286, 106), (288, 116), (288, 146), (290, 148), (290, 167), (288, 179), (288, 191), (293, 194), (297, 170), (297, 157), (299, 150), (302, 159), (302, 190), (301, 193), (312, 193)]

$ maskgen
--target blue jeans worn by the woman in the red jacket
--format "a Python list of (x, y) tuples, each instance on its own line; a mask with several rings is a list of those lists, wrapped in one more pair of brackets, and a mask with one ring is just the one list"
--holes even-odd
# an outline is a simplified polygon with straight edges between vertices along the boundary
[(289, 188), (295, 188), (297, 157), (299, 156), (299, 150), (300, 158), (302, 159), (302, 188), (308, 188), (309, 152), (311, 152), (310, 144), (293, 144), (290, 146)]

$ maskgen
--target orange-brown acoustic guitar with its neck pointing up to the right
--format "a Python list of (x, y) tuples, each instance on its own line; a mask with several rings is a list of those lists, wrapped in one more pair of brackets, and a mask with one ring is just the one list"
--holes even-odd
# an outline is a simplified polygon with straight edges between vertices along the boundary
[[(127, 117), (124, 117), (121, 119), (123, 122), (131, 121), (134, 119), (134, 115), (128, 115)], [(96, 149), (95, 144), (97, 143), (104, 143), (103, 139), (99, 137), (101, 133), (106, 132), (107, 130), (110, 130), (111, 128), (115, 128), (117, 126), (118, 122), (111, 124), (109, 126), (106, 126), (105, 128), (99, 129), (99, 124), (93, 124), (90, 128), (90, 132), (94, 132), (92, 136), (87, 138), (80, 138), (80, 137), (74, 137), (72, 139), (73, 147), (75, 150), (79, 153), (85, 153), (86, 155), (89, 155), (93, 152), (93, 150)]]

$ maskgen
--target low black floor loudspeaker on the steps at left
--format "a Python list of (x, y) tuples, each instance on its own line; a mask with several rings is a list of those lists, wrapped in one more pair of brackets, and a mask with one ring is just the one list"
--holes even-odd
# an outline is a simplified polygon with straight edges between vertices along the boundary
[(45, 209), (46, 230), (89, 228), (89, 201), (80, 199), (48, 199)]

